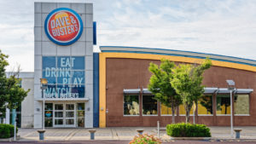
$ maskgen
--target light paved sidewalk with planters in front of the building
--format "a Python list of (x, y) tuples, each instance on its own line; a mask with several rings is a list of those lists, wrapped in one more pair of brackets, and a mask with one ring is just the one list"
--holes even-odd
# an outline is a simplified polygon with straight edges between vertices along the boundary
[[(131, 140), (137, 135), (137, 129), (144, 133), (157, 136), (156, 127), (114, 127), (96, 128), (96, 140)], [(212, 139), (231, 139), (230, 127), (210, 127)], [(241, 129), (241, 139), (256, 140), (256, 127), (236, 127)], [(81, 141), (90, 140), (90, 129), (46, 129), (45, 140), (48, 141)], [(20, 141), (38, 141), (38, 132), (34, 129), (19, 129)], [(235, 133), (234, 133), (235, 136)], [(161, 140), (170, 140), (165, 128), (160, 130)]]

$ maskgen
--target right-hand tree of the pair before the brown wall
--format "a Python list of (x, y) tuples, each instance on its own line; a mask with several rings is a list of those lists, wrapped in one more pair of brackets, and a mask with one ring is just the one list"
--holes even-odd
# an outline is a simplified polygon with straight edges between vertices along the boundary
[(193, 102), (201, 98), (204, 86), (201, 84), (203, 73), (212, 66), (212, 60), (207, 58), (201, 65), (180, 64), (173, 69), (171, 84), (178, 95), (181, 95), (186, 111), (186, 123), (189, 122), (189, 112)]

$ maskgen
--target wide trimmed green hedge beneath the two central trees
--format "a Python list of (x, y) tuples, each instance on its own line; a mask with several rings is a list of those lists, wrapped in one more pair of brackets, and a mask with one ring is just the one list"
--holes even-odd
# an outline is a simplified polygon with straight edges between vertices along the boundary
[(166, 133), (173, 137), (211, 137), (205, 124), (167, 124)]

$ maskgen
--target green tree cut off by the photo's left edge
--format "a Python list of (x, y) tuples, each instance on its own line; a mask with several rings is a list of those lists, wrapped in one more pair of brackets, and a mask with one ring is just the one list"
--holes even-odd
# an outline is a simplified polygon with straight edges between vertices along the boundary
[(20, 70), (12, 72), (9, 77), (6, 76), (6, 66), (9, 65), (6, 60), (8, 55), (4, 55), (0, 50), (0, 112), (5, 113), (6, 108), (16, 109), (20, 106), (27, 93), (30, 91), (21, 88)]

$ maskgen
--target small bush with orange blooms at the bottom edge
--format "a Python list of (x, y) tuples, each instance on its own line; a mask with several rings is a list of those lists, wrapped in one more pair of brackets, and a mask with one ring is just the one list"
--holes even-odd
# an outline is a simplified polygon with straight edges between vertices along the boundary
[(129, 144), (161, 144), (160, 139), (154, 137), (154, 135), (139, 135), (139, 136), (134, 136), (133, 140), (130, 141)]

